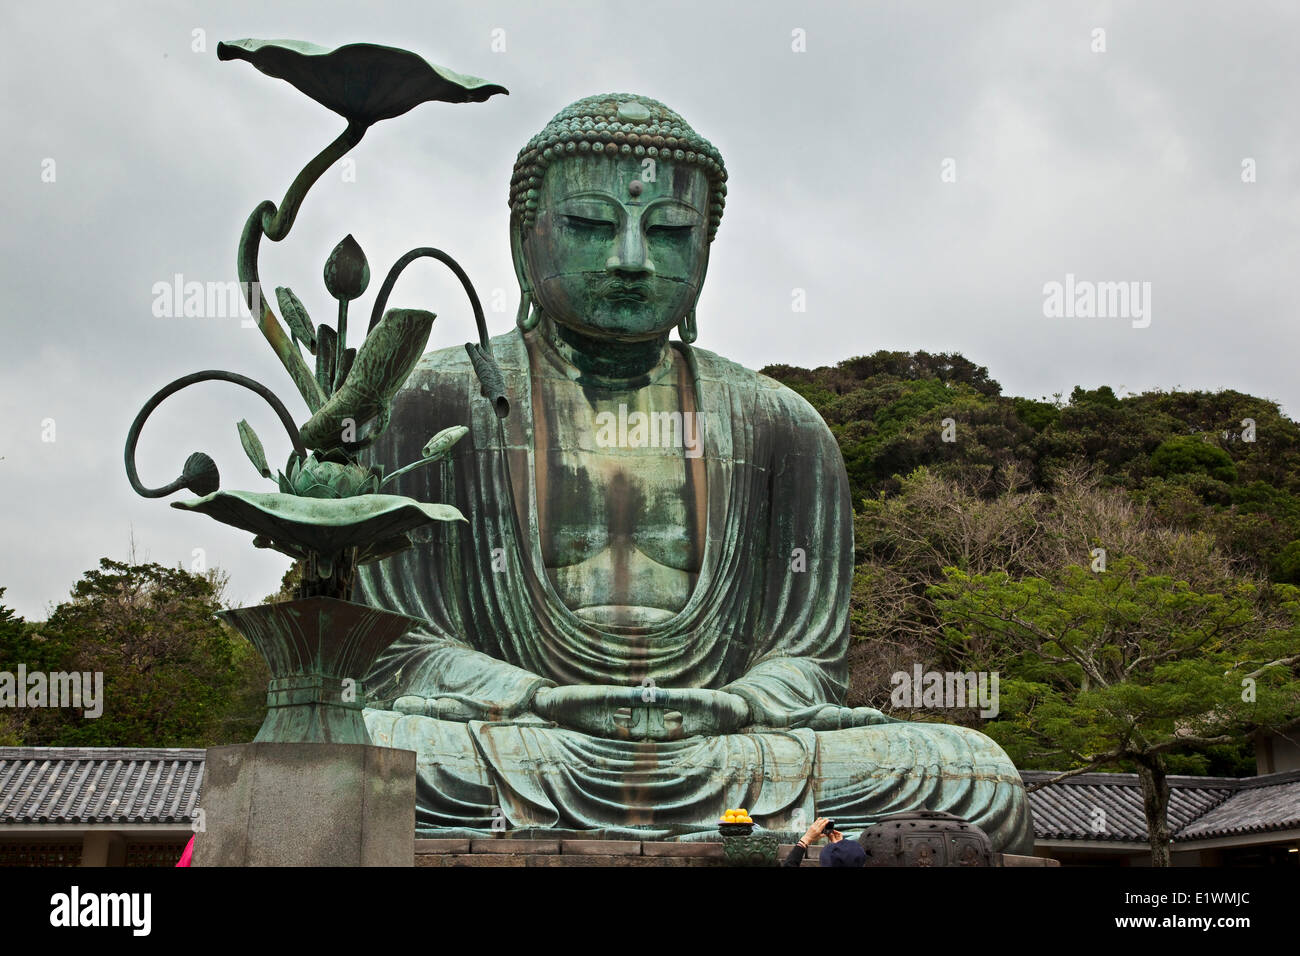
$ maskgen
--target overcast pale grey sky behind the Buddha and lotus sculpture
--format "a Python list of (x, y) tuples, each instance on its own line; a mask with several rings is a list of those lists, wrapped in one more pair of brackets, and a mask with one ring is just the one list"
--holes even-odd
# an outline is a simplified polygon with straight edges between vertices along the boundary
[[(755, 368), (961, 351), (1009, 394), (1232, 388), (1300, 408), (1294, 3), (42, 3), (3, 17), (0, 587), (31, 619), (100, 557), (125, 557), (133, 531), (139, 558), (190, 566), (202, 549), (244, 604), (289, 563), (135, 497), (122, 468), (139, 406), (191, 371), (251, 375), (307, 418), (256, 330), (151, 308), (177, 273), (234, 278), (244, 219), (342, 129), (287, 83), (220, 62), (222, 39), (386, 43), (511, 91), (373, 127), (355, 181), (326, 173), (289, 239), (264, 243), (264, 282), (317, 319), (333, 319), (321, 265), (352, 233), (376, 274), (356, 313), (394, 259), (434, 245), (469, 272), (491, 332), (508, 329), (515, 155), (568, 103), (627, 91), (682, 113), (731, 173), (702, 347)], [(1044, 285), (1067, 273), (1149, 282), (1149, 325), (1046, 317)], [(471, 338), (433, 267), (410, 269), (391, 304), (439, 313), (432, 349)], [(207, 450), (225, 488), (270, 490), (240, 418), (282, 460), (272, 412), (212, 384), (151, 419), (146, 484)]]

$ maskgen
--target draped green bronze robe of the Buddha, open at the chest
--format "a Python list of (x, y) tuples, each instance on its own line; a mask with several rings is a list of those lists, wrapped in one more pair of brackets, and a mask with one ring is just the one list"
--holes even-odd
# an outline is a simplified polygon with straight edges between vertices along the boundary
[[(801, 397), (712, 352), (673, 347), (689, 363), (703, 416), (707, 520), (694, 592), (654, 627), (594, 626), (554, 593), (542, 566), (534, 380), (520, 332), (493, 339), (512, 402), (504, 421), (480, 397), (462, 350), (426, 355), (398, 394), (372, 453), (390, 468), (417, 459), (442, 428), (469, 425), (450, 459), (395, 489), (452, 503), (468, 523), (442, 523), (416, 548), (359, 572), (359, 600), (426, 622), (365, 682), (372, 739), (417, 753), (417, 832), (495, 825), (673, 838), (716, 832), (731, 806), (775, 830), (833, 816), (852, 832), (924, 806), (978, 823), (1001, 849), (1028, 852), (1023, 786), (988, 737), (888, 718), (807, 726), (842, 705), (846, 689), (853, 512), (844, 462)], [(526, 711), (540, 685), (649, 680), (738, 695), (753, 726), (637, 743)], [(386, 709), (407, 695), (441, 698), (459, 719)]]

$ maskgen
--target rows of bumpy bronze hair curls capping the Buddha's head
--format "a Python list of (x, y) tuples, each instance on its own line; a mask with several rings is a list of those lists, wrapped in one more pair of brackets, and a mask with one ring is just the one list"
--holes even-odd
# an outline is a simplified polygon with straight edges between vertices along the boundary
[(515, 160), (510, 179), (510, 212), (523, 225), (537, 215), (537, 191), (546, 166), (564, 156), (638, 156), (703, 168), (712, 186), (708, 198), (708, 241), (727, 204), (727, 166), (714, 144), (696, 133), (677, 113), (658, 100), (634, 94), (607, 92), (573, 103), (528, 140)]

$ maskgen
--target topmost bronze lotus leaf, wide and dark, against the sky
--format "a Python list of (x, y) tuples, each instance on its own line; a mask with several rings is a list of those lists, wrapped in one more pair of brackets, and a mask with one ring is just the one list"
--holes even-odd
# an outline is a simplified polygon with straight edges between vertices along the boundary
[(376, 43), (335, 49), (302, 40), (230, 40), (218, 60), (247, 60), (268, 77), (292, 83), (335, 113), (369, 126), (429, 100), (482, 103), (508, 92), (478, 77), (434, 66), (422, 56)]

